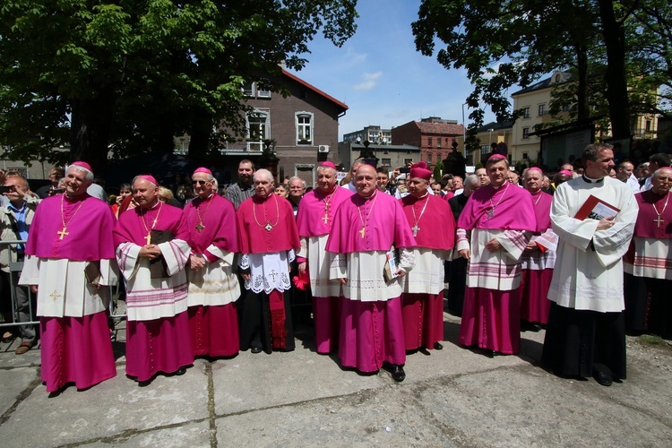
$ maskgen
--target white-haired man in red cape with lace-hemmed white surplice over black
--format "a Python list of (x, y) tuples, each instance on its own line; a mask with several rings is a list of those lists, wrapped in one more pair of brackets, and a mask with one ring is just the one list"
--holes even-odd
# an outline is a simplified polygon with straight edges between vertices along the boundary
[(289, 202), (273, 192), (267, 169), (254, 173), (254, 196), (238, 208), (240, 257), (238, 266), (246, 293), (238, 307), (240, 349), (252, 353), (293, 350), (289, 300), (289, 263), (300, 247), (297, 224)]

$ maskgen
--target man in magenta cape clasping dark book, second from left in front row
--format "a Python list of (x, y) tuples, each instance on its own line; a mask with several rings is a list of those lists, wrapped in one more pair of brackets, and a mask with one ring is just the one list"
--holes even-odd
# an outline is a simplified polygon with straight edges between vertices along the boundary
[(131, 211), (119, 215), (116, 262), (126, 279), (126, 375), (139, 383), (159, 372), (183, 375), (194, 363), (185, 266), (189, 229), (182, 210), (159, 201), (150, 175), (133, 181)]

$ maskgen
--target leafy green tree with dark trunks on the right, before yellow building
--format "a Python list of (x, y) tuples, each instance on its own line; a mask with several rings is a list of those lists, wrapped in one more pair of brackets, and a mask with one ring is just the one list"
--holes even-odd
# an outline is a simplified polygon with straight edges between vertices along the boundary
[(595, 95), (590, 90), (590, 66), (602, 65), (608, 69), (600, 94), (607, 99), (613, 134), (622, 138), (631, 134), (626, 64), (631, 59), (626, 43), (635, 35), (630, 34), (634, 30), (630, 23), (634, 17), (655, 22), (645, 13), (638, 15), (643, 5), (652, 3), (663, 4), (662, 0), (424, 0), (413, 33), (418, 51), (434, 55), (438, 39), (444, 47), (436, 53), (437, 60), (448, 69), (466, 69), (473, 86), (467, 99), (475, 122), (470, 131), (482, 124), (481, 103), (499, 119), (516, 118), (519, 111), (510, 110), (507, 89), (528, 87), (556, 70), (573, 73), (574, 114), (586, 118)]

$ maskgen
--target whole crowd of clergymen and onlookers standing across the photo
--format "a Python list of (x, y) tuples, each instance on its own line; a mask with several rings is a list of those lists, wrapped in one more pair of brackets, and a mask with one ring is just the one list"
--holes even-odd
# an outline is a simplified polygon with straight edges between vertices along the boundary
[[(447, 280), (462, 346), (513, 355), (521, 331), (545, 327), (544, 366), (610, 385), (626, 377), (626, 332), (672, 336), (672, 168), (656, 154), (650, 177), (627, 160), (611, 177), (615, 154), (602, 143), (581, 159), (552, 180), (536, 167), (519, 175), (497, 152), (441, 179), (423, 162), (358, 159), (340, 183), (322, 162), (309, 187), (276, 185), (242, 160), (225, 192), (197, 168), (185, 203), (150, 174), (100, 201), (83, 161), (55, 168), (37, 194), (7, 173), (1, 236), (27, 243), (3, 246), (3, 280), (16, 322), (31, 320), (29, 289), (39, 316), (39, 329), (18, 326), (16, 353), (41, 340), (47, 392), (113, 377), (110, 288), (123, 285), (126, 375), (147, 383), (196, 357), (295, 349), (302, 292), (317, 353), (401, 382), (407, 355), (443, 349)], [(10, 259), (24, 263), (18, 279)]]

